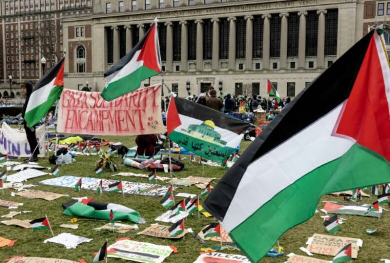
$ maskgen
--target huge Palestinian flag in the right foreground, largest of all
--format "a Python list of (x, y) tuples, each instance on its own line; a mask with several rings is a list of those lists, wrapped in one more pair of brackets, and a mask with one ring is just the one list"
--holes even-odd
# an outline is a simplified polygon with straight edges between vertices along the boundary
[(310, 219), (322, 195), (390, 182), (390, 68), (380, 33), (298, 94), (206, 199), (252, 262)]

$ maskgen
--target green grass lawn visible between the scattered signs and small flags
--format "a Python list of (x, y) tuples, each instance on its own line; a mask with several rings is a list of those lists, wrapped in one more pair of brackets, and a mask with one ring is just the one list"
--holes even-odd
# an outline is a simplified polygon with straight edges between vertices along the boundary
[[(105, 137), (112, 142), (121, 141), (128, 147), (135, 145), (135, 137)], [(241, 152), (244, 148), (249, 145), (249, 142), (243, 141), (241, 143)], [(73, 175), (73, 176), (84, 176), (84, 177), (96, 177), (94, 172), (95, 162), (97, 156), (77, 156), (76, 162), (71, 165), (66, 165), (61, 167), (61, 176), (64, 175)], [(120, 163), (118, 159), (118, 163)], [(187, 176), (202, 176), (202, 168), (199, 164), (191, 164), (188, 160), (184, 161), (185, 169), (180, 172), (176, 172), (175, 175), (179, 178)], [(47, 158), (40, 158), (39, 164), (45, 167), (53, 167), (49, 164)], [(2, 171), (3, 169), (1, 169)], [(220, 167), (204, 167), (204, 177), (217, 177), (221, 178), (225, 169)], [(145, 173), (143, 170), (138, 170), (135, 168), (126, 167), (123, 165), (119, 166), (118, 172), (135, 172), (135, 173)], [(121, 177), (111, 175), (114, 172), (104, 172), (103, 177), (105, 179), (116, 179), (123, 181), (134, 181), (134, 182), (148, 182), (147, 178), (139, 177)], [(166, 176), (162, 172), (159, 173), (161, 176)], [(44, 179), (52, 178), (53, 176), (47, 175), (39, 178), (31, 179), (28, 183), (37, 183)], [(218, 181), (213, 181), (213, 185)], [(166, 184), (161, 181), (157, 181), (157, 184)], [(33, 232), (31, 229), (24, 229), (17, 226), (6, 226), (0, 224), (0, 236), (8, 239), (17, 239), (17, 242), (13, 247), (3, 247), (0, 248), (0, 260), (10, 258), (15, 255), (24, 255), (24, 256), (35, 256), (35, 257), (51, 257), (51, 258), (63, 258), (69, 260), (78, 260), (84, 259), (87, 262), (92, 262), (93, 252), (98, 251), (101, 245), (104, 243), (105, 239), (108, 239), (109, 244), (112, 244), (115, 239), (122, 237), (129, 237), (132, 240), (149, 242), (158, 245), (173, 245), (175, 246), (179, 253), (172, 254), (169, 256), (165, 262), (167, 263), (192, 263), (198, 257), (200, 249), (203, 245), (196, 240), (191, 235), (186, 235), (185, 240), (169, 240), (169, 239), (160, 239), (154, 237), (148, 237), (144, 235), (137, 235), (137, 232), (143, 230), (145, 227), (148, 227), (152, 223), (157, 223), (154, 219), (165, 212), (165, 209), (159, 204), (160, 198), (155, 197), (145, 197), (138, 195), (125, 195), (123, 199), (120, 193), (108, 194), (104, 193), (103, 196), (97, 195), (96, 192), (81, 190), (81, 192), (75, 192), (74, 189), (63, 188), (63, 187), (52, 187), (52, 186), (38, 186), (33, 189), (49, 191), (54, 193), (69, 194), (70, 197), (62, 197), (54, 201), (45, 201), (40, 199), (31, 199), (28, 200), (23, 197), (15, 196), (11, 197), (11, 192), (15, 190), (6, 189), (4, 191), (5, 195), (0, 195), (0, 199), (21, 202), (24, 203), (24, 206), (19, 207), (16, 211), (31, 210), (32, 213), (22, 214), (15, 216), (17, 219), (35, 219), (43, 217), (47, 214), (50, 223), (53, 227), (54, 234), (59, 234), (61, 232), (72, 233), (75, 235), (83, 236), (86, 238), (93, 238), (90, 243), (84, 243), (79, 245), (76, 249), (65, 249), (64, 246), (53, 243), (43, 244), (43, 241), (51, 237), (49, 231), (36, 231)], [(179, 192), (185, 193), (194, 193), (198, 194), (202, 190), (198, 189), (195, 186), (192, 187), (180, 187), (177, 189)], [(80, 219), (77, 222), (79, 228), (76, 230), (60, 228), (61, 224), (70, 224), (72, 217), (63, 215), (63, 209), (61, 207), (62, 203), (67, 202), (71, 197), (81, 197), (88, 196), (93, 197), (96, 201), (100, 202), (110, 202), (117, 203), (132, 209), (135, 209), (141, 213), (141, 215), (146, 219), (146, 224), (140, 224), (140, 230), (130, 230), (126, 234), (112, 233), (110, 231), (96, 231), (94, 228), (100, 227), (107, 222), (103, 221), (94, 221)], [(334, 196), (324, 196), (322, 200), (334, 200), (341, 201), (342, 197)], [(201, 199), (203, 201), (204, 199)], [(177, 199), (176, 199), (177, 201)], [(374, 198), (363, 198), (365, 203), (372, 203)], [(302, 204), (304, 205), (304, 204)], [(320, 203), (318, 210), (323, 207), (323, 203)], [(387, 206), (386, 206), (387, 207)], [(0, 207), (0, 215), (5, 215), (9, 212), (7, 208)], [(326, 229), (323, 226), (323, 219), (319, 216), (323, 213), (319, 212), (315, 214), (309, 221), (301, 224), (287, 233), (285, 233), (280, 239), (280, 245), (284, 248), (286, 254), (293, 252), (295, 254), (305, 255), (299, 250), (299, 247), (305, 247), (305, 243), (308, 237), (311, 237), (314, 233), (326, 234)], [(341, 225), (341, 230), (337, 233), (339, 236), (361, 238), (364, 243), (363, 247), (359, 251), (358, 259), (353, 262), (358, 263), (368, 263), (368, 262), (378, 262), (381, 258), (390, 258), (390, 219), (388, 218), (389, 212), (384, 211), (383, 217), (378, 220), (377, 218), (370, 217), (361, 217), (361, 216), (347, 216), (342, 215), (343, 218), (347, 219), (344, 224)], [(1, 218), (1, 220), (5, 220)], [(200, 221), (197, 219), (197, 216), (190, 216), (186, 221), (186, 228), (192, 228), (196, 233), (199, 232), (204, 225), (216, 222), (215, 219), (205, 218), (201, 216)], [(123, 222), (127, 223), (127, 222)], [(161, 225), (170, 225), (168, 223), (158, 222)], [(131, 223), (129, 223), (131, 224)], [(368, 235), (365, 232), (365, 228), (371, 227), (374, 228), (379, 225), (384, 225), (385, 227), (378, 233), (374, 235)], [(248, 230), (250, 231), (250, 230)], [(218, 242), (207, 242), (208, 245), (219, 246)], [(261, 244), (258, 244), (261, 246)], [(231, 254), (241, 254), (239, 251), (221, 251), (222, 253), (231, 253)], [(314, 255), (316, 258), (331, 260), (330, 256)], [(287, 260), (287, 257), (280, 258), (269, 258), (265, 257), (260, 262), (264, 263), (280, 263)], [(109, 262), (124, 262), (124, 260), (109, 258)]]

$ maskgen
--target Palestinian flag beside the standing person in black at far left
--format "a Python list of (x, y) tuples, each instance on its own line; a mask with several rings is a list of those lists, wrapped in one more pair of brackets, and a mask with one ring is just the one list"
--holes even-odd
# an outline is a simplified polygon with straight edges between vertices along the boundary
[(65, 57), (39, 79), (28, 100), (24, 120), (32, 127), (40, 121), (59, 99), (63, 90)]

